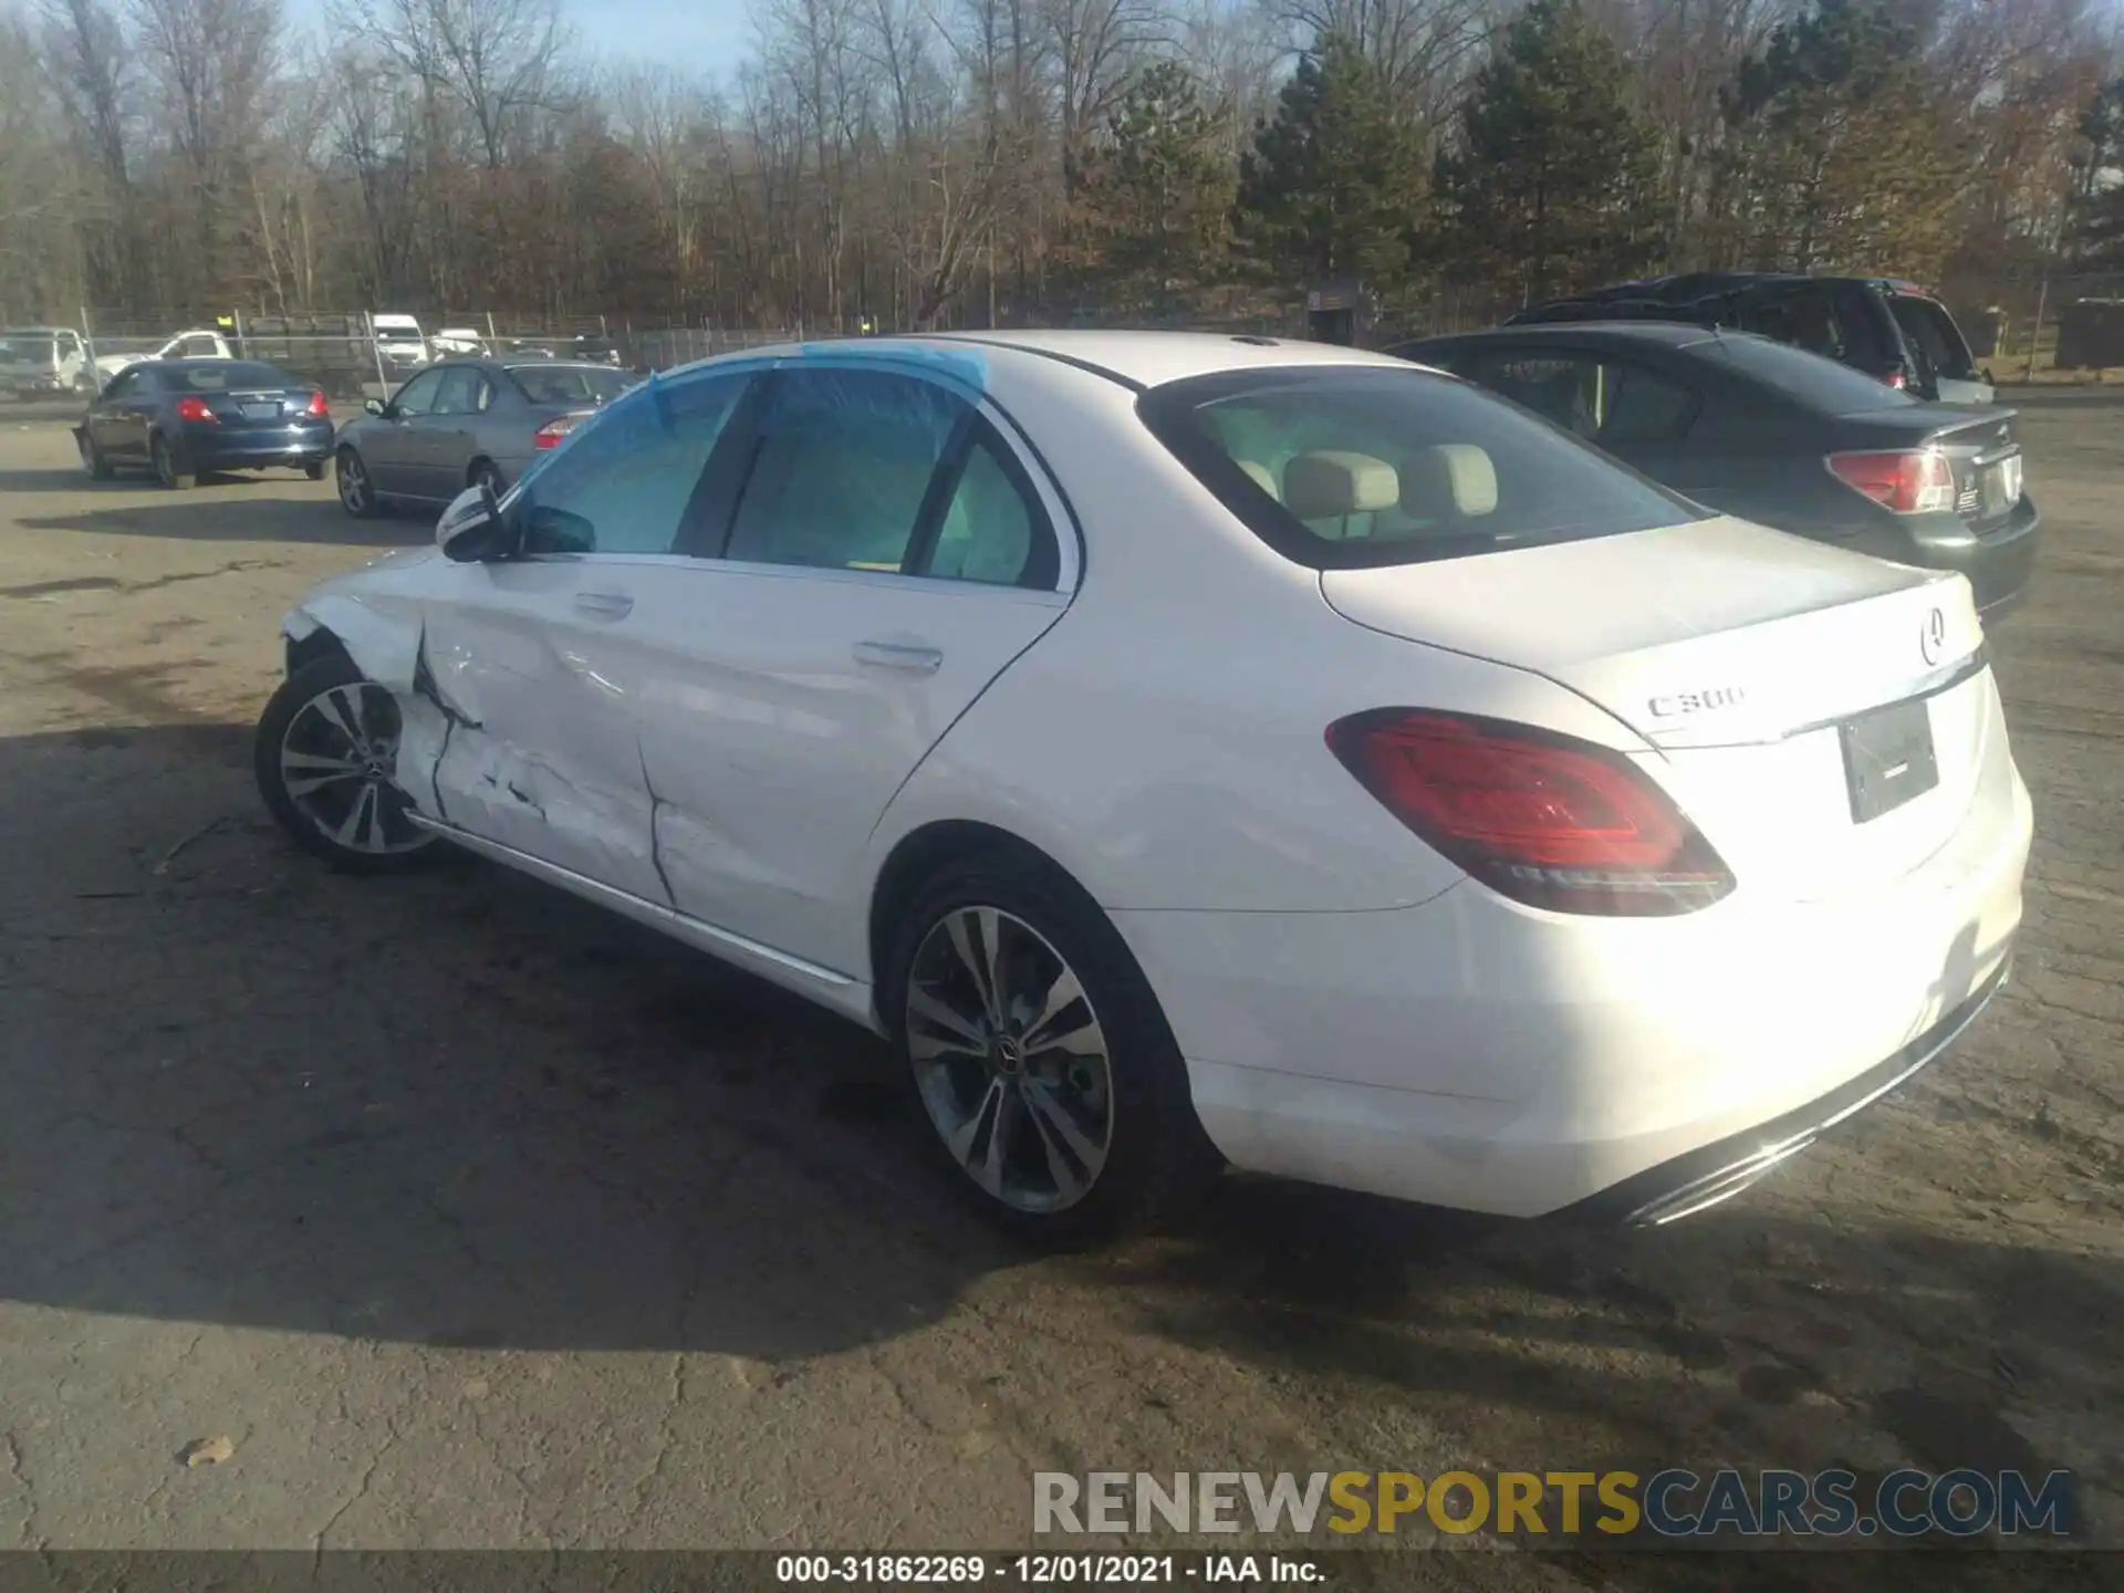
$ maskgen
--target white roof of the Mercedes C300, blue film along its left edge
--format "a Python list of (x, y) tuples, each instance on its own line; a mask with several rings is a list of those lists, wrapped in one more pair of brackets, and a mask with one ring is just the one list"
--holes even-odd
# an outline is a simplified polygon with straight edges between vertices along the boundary
[(1274, 370), (1277, 365), (1406, 365), (1408, 361), (1342, 344), (1298, 338), (1226, 336), (1215, 331), (939, 331), (903, 338), (835, 338), (809, 344), (773, 344), (720, 361), (782, 359), (799, 353), (833, 353), (847, 359), (894, 363), (913, 355), (966, 355), (975, 348), (1005, 350), (1026, 361), (1051, 361), (1109, 376), (1128, 387), (1160, 387), (1187, 376), (1232, 370)]

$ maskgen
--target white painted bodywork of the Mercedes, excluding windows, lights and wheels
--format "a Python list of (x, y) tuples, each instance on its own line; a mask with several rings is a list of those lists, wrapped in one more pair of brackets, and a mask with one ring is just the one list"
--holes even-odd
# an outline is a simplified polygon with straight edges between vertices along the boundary
[[(567, 446), (658, 387), (822, 361), (977, 399), (1062, 531), (1054, 590), (618, 554), (340, 576), (285, 631), (331, 631), (397, 695), (399, 784), (427, 822), (873, 1026), (894, 850), (941, 822), (1003, 828), (1117, 926), (1234, 1164), (1506, 1215), (1769, 1124), (1905, 1047), (1929, 1060), (2003, 977), (2033, 818), (1960, 576), (1729, 518), (1302, 567), (1117, 378), (1451, 380), (1311, 344), (773, 348), (663, 378)], [(1939, 784), (1861, 828), (1835, 722), (1924, 692)], [(1737, 886), (1674, 918), (1497, 894), (1323, 746), (1385, 705), (1629, 758)]]

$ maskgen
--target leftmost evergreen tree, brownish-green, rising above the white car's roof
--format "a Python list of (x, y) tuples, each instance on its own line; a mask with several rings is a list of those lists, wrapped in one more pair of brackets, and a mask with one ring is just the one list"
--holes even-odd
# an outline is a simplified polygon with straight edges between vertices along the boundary
[(1234, 181), (1217, 123), (1179, 62), (1143, 68), (1121, 91), (1081, 195), (1090, 268), (1109, 306), (1158, 302), (1217, 276)]

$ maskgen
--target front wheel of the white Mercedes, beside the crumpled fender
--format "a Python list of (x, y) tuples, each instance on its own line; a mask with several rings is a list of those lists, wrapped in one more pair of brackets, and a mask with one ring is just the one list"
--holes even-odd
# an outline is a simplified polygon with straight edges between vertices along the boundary
[[(421, 830), (406, 822), (412, 803), (389, 777), (378, 777), (370, 758), (355, 743), (340, 735), (333, 720), (312, 712), (319, 699), (331, 695), (338, 718), (370, 729), (372, 743), (389, 737), (395, 746), (399, 722), (397, 703), (389, 690), (361, 678), (361, 671), (344, 654), (331, 654), (304, 665), (280, 682), (280, 688), (259, 714), (257, 735), (251, 743), (251, 769), (257, 777), (259, 796), (266, 811), (278, 820), (280, 828), (304, 852), (323, 858), (344, 873), (382, 875), (408, 873), (440, 862), (448, 847), (433, 830)], [(389, 714), (384, 712), (389, 705)], [(370, 720), (376, 720), (372, 726)], [(344, 748), (340, 746), (344, 743)], [(327, 758), (344, 752), (344, 763), (361, 765), (365, 773), (327, 777), (312, 792), (295, 792), (289, 786), (287, 758), (297, 756), (302, 767), (329, 771)], [(391, 758), (378, 750), (380, 767)], [(329, 792), (329, 794), (321, 794)], [(367, 820), (357, 816), (359, 803), (370, 803)], [(404, 843), (401, 850), (374, 850), (348, 845), (333, 839), (333, 820), (350, 824), (359, 839), (384, 839)], [(333, 826), (333, 828), (327, 828)]]

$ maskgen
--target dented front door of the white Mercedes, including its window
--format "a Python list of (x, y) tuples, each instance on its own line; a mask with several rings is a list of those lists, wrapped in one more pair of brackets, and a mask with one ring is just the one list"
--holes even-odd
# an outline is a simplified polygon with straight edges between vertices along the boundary
[(421, 792), (446, 824), (671, 905), (624, 656), (680, 548), (743, 376), (629, 393), (527, 476), (520, 559), (474, 565), (425, 614), (421, 692), (448, 720)]

